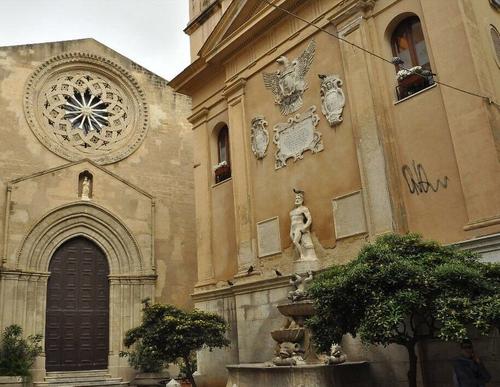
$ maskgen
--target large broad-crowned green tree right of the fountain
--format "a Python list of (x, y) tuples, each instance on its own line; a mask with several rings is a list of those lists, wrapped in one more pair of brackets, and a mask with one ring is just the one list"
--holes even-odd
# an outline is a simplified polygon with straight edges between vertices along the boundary
[(471, 327), (500, 325), (500, 265), (416, 234), (387, 234), (343, 266), (313, 281), (316, 315), (308, 321), (319, 349), (345, 334), (367, 344), (403, 345), (416, 387), (415, 346), (425, 339), (461, 341)]

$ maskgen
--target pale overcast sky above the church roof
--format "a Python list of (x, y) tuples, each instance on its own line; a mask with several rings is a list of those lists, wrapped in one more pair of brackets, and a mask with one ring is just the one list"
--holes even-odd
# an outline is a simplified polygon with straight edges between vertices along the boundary
[(189, 64), (188, 0), (0, 0), (0, 46), (94, 38), (172, 79)]

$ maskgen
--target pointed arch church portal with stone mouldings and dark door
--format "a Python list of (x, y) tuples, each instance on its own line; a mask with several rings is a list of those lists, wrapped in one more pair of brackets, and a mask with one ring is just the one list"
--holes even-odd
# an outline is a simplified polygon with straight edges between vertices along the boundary
[(90, 201), (49, 211), (20, 245), (16, 270), (3, 273), (14, 313), (2, 319), (45, 333), (36, 375), (107, 369), (128, 377), (119, 353), (125, 332), (140, 322), (141, 300), (154, 299), (151, 251), (143, 255), (125, 222)]

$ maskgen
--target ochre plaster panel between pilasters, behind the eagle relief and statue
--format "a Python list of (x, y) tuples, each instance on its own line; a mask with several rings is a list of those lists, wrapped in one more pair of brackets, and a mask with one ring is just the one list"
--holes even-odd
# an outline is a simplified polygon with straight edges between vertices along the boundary
[[(338, 74), (340, 79), (345, 79), (338, 41), (332, 40), (326, 34), (317, 33), (286, 51), (284, 55), (290, 60), (297, 58), (307, 47), (310, 39), (316, 42), (316, 56), (307, 74), (309, 89), (303, 97), (304, 105), (297, 113), (304, 113), (310, 106), (316, 106), (316, 114), (320, 118), (316, 129), (322, 134), (325, 149), (317, 154), (304, 152), (303, 160), (294, 162), (293, 159), (289, 159), (287, 166), (279, 170), (275, 170), (276, 147), (272, 143), (269, 144), (267, 157), (258, 160), (252, 155), (249, 160), (255, 219), (258, 222), (279, 216), (283, 249), (291, 244), (288, 238), (290, 231), (288, 213), (293, 207), (293, 188), (305, 191), (305, 202), (313, 216), (314, 233), (326, 246), (332, 246), (335, 240), (332, 199), (361, 188), (349, 107), (344, 109), (344, 122), (336, 128), (331, 128), (321, 113), (319, 91), (321, 82), (317, 74)], [(286, 123), (290, 117), (280, 114), (279, 107), (272, 103), (273, 94), (265, 88), (262, 79), (263, 72), (274, 72), (279, 68), (278, 64), (270, 63), (247, 80), (245, 109), (248, 122), (245, 134), (248, 138), (252, 118), (264, 116), (269, 123), (268, 131), (272, 138), (273, 127), (278, 123)], [(349, 94), (347, 92), (345, 94), (346, 98), (349, 98)], [(270, 181), (273, 184), (269, 184)]]

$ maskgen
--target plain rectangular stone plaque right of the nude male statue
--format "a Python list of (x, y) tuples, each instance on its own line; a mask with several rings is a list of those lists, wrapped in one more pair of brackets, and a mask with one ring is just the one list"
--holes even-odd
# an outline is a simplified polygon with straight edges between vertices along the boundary
[(366, 219), (361, 191), (339, 196), (332, 201), (337, 239), (365, 233)]

